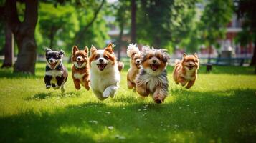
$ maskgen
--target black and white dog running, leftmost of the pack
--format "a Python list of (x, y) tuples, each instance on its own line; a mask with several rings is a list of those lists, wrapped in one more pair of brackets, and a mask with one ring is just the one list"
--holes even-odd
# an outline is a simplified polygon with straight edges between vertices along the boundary
[(64, 84), (67, 81), (67, 68), (62, 64), (62, 57), (64, 51), (52, 51), (51, 49), (45, 49), (46, 56), (46, 72), (44, 77), (44, 83), (46, 88), (51, 86), (54, 89), (61, 87), (62, 92), (65, 92)]

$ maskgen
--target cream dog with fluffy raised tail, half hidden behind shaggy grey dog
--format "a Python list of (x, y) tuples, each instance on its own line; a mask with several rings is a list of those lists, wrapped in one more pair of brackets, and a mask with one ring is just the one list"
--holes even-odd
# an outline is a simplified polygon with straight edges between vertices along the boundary
[(127, 56), (130, 57), (130, 69), (127, 74), (127, 87), (128, 89), (134, 89), (136, 92), (135, 78), (141, 67), (141, 51), (136, 44), (129, 44), (127, 48)]

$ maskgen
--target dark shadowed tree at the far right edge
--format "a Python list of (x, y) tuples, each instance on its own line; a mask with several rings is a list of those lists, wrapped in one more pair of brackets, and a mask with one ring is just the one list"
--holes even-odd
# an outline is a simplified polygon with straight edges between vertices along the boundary
[[(256, 46), (256, 1), (237, 0), (235, 2), (237, 4), (237, 15), (243, 20), (242, 32), (239, 35), (241, 44), (245, 45), (254, 42), (254, 45)], [(250, 66), (256, 66), (256, 48), (253, 51)]]

